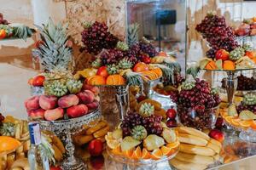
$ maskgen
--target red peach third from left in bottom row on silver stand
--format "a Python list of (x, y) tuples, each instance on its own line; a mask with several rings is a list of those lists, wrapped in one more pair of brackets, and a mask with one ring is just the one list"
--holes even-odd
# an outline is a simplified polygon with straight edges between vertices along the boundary
[(69, 117), (79, 117), (84, 116), (88, 113), (88, 107), (84, 104), (73, 105), (67, 108), (67, 116)]

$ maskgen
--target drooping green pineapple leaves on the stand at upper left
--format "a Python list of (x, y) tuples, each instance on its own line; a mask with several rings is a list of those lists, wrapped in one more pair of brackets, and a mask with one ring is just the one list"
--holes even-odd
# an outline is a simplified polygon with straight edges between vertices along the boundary
[(27, 37), (32, 37), (32, 30), (23, 24), (11, 24), (14, 29), (14, 37), (26, 40)]

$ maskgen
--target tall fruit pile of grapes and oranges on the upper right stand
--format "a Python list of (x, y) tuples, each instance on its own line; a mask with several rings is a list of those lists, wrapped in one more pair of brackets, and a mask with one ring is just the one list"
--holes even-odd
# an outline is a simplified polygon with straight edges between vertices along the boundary
[(239, 45), (230, 26), (226, 26), (224, 16), (209, 13), (195, 28), (211, 47), (207, 57), (199, 62), (200, 69), (235, 71), (253, 69), (255, 51), (248, 45)]

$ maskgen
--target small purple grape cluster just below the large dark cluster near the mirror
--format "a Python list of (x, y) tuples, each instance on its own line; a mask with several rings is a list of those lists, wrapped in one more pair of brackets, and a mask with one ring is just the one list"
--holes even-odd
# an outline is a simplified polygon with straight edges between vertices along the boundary
[(118, 64), (120, 59), (124, 58), (124, 53), (116, 48), (106, 49), (100, 55), (102, 65)]

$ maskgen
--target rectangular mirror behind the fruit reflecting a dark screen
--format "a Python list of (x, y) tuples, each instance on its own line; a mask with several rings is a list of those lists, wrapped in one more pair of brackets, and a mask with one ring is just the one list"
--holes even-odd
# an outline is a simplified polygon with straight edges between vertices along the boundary
[(157, 51), (177, 58), (185, 71), (185, 0), (128, 0), (127, 42), (146, 37)]

